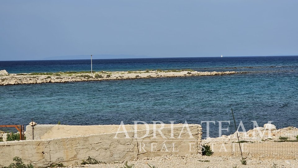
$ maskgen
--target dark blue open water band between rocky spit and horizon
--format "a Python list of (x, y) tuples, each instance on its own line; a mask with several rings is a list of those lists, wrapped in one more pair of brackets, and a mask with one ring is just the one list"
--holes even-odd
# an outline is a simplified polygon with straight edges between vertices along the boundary
[[(297, 56), (93, 59), (93, 71), (193, 69), (196, 71), (290, 70)], [(281, 67), (282, 66), (282, 67)], [(91, 71), (91, 60), (0, 61), (8, 73)]]

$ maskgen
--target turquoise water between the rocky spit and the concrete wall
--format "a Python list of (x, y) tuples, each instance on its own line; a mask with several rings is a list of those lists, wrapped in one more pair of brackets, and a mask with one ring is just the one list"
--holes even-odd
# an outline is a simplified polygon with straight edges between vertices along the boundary
[[(38, 124), (70, 125), (232, 122), (233, 108), (237, 123), (242, 120), (247, 129), (253, 120), (259, 126), (271, 120), (278, 128), (297, 127), (298, 59), (284, 64), (282, 59), (267, 60), (271, 68), (245, 68), (251, 71), (228, 76), (1, 86), (0, 124), (28, 124), (32, 118)], [(256, 67), (253, 60), (247, 65)], [(210, 135), (217, 134), (218, 123)]]

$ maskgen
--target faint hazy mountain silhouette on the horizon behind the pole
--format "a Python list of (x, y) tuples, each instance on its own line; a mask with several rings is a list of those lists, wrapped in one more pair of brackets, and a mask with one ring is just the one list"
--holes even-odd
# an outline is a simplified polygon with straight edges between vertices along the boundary
[[(117, 59), (117, 58), (155, 58), (146, 55), (108, 55), (108, 54), (97, 54), (93, 55), (92, 59)], [(66, 55), (56, 57), (46, 57), (43, 60), (63, 60), (63, 59), (90, 59), (90, 55)]]

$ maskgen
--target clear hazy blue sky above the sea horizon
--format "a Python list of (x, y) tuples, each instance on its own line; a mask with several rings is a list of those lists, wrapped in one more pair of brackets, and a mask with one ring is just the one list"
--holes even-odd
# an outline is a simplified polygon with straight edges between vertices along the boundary
[(298, 55), (297, 7), (297, 0), (3, 0), (0, 61)]

